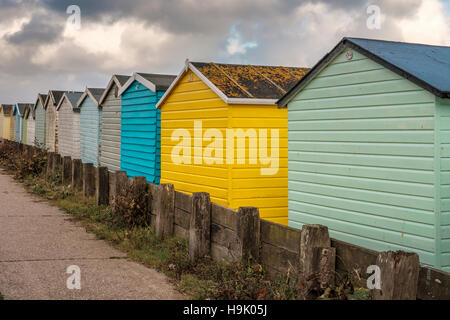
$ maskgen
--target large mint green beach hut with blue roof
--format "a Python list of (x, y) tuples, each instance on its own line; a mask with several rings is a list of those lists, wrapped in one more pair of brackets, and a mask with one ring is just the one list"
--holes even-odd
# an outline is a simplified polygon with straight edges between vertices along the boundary
[(280, 101), (289, 225), (450, 271), (450, 47), (344, 38)]

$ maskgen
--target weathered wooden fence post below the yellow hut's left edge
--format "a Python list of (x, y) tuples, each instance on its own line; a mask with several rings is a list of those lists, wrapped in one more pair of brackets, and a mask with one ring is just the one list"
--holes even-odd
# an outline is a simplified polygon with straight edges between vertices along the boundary
[(175, 190), (173, 184), (161, 184), (153, 192), (155, 233), (158, 238), (167, 239), (173, 236), (175, 228)]

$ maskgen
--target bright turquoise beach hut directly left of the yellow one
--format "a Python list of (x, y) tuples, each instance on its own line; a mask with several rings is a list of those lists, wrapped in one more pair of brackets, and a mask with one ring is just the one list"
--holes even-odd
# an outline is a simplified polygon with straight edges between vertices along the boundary
[(159, 184), (161, 173), (161, 121), (156, 104), (176, 76), (134, 73), (120, 89), (120, 169), (129, 177), (143, 176)]

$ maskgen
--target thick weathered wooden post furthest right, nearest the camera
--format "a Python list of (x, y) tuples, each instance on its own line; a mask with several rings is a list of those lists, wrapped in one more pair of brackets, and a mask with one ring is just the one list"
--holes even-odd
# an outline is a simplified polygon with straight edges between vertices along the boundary
[(373, 290), (374, 300), (416, 300), (420, 260), (417, 253), (381, 252), (377, 258), (381, 289)]

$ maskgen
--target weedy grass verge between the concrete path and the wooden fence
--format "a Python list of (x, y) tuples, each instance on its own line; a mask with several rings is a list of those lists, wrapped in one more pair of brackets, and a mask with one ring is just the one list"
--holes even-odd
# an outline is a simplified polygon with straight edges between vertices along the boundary
[[(28, 177), (26, 188), (46, 198), (70, 214), (99, 239), (127, 253), (128, 257), (166, 274), (178, 290), (192, 299), (306, 299), (305, 281), (291, 273), (268, 277), (262, 266), (252, 263), (223, 264), (206, 257), (195, 264), (189, 261), (188, 244), (184, 239), (158, 239), (149, 227), (130, 226), (110, 206), (97, 206), (60, 184), (59, 177), (44, 179)], [(314, 295), (313, 295), (314, 296)], [(333, 290), (316, 292), (319, 299), (370, 299), (370, 292), (345, 282)]]

